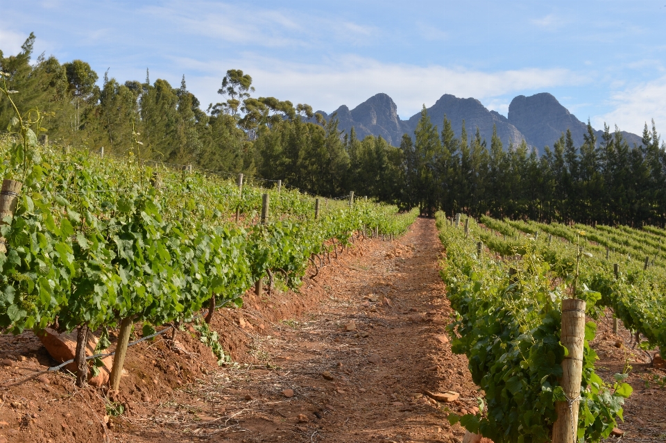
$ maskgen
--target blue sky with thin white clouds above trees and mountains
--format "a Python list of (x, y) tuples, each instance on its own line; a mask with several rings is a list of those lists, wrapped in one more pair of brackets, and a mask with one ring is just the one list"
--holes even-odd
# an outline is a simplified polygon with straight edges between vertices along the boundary
[(207, 108), (228, 69), (256, 97), (350, 109), (384, 92), (408, 119), (443, 94), (507, 115), (549, 92), (581, 121), (666, 127), (666, 0), (326, 2), (0, 0), (0, 49), (85, 60), (103, 78), (187, 88)]

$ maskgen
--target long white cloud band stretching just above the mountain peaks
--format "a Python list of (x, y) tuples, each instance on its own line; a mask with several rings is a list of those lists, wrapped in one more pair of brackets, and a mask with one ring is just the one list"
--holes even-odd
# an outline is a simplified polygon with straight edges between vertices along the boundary
[[(198, 69), (204, 75), (187, 78), (188, 88), (202, 103), (220, 101), (214, 92), (227, 69), (242, 69), (253, 77), (257, 95), (309, 103), (317, 110), (332, 112), (345, 104), (350, 109), (379, 92), (398, 105), (402, 119), (418, 112), (425, 103), (432, 106), (443, 94), (492, 101), (505, 94), (545, 90), (561, 85), (578, 85), (586, 78), (567, 69), (516, 69), (479, 72), (442, 66), (384, 63), (346, 56), (322, 65), (301, 65), (267, 58), (246, 58), (221, 62), (178, 59), (180, 65)], [(495, 106), (495, 105), (493, 105)], [(497, 103), (499, 112), (506, 112)]]

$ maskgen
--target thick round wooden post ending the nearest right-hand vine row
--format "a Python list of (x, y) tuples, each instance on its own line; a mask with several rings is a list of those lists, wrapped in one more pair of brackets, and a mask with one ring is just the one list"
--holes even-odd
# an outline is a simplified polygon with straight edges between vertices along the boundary
[(585, 343), (585, 300), (562, 301), (560, 342), (569, 354), (562, 360), (562, 386), (567, 401), (556, 401), (557, 420), (553, 426), (553, 443), (577, 442), (578, 410), (583, 378), (583, 344)]

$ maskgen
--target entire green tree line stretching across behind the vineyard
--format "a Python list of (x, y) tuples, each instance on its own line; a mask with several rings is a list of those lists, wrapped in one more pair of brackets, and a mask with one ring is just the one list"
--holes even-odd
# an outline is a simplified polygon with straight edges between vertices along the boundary
[[(343, 133), (335, 116), (325, 120), (311, 106), (256, 97), (252, 78), (238, 69), (223, 76), (219, 103), (205, 110), (187, 90), (163, 79), (120, 83), (99, 76), (87, 62), (60, 63), (38, 56), (35, 35), (0, 67), (19, 109), (38, 108), (49, 140), (105, 153), (138, 152), (143, 159), (243, 172), (325, 197), (351, 190), (424, 215), (444, 210), (543, 222), (588, 224), (666, 223), (666, 147), (654, 122), (642, 143), (622, 133), (597, 140), (588, 122), (580, 147), (562, 134), (538, 155), (523, 141), (504, 147), (496, 133), (486, 142), (465, 124), (455, 137), (445, 117), (441, 131), (425, 106), (413, 134), (392, 147), (382, 137), (358, 140)], [(11, 131), (13, 110), (0, 101), (0, 128)]]

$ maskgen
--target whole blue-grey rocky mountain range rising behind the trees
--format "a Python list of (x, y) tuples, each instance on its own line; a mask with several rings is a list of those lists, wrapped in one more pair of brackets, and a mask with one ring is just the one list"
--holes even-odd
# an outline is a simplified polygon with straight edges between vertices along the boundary
[[(336, 113), (340, 122), (339, 128), (349, 132), (353, 126), (359, 139), (366, 135), (381, 135), (393, 146), (400, 146), (400, 140), (405, 133), (413, 137), (420, 119), (419, 112), (407, 120), (401, 120), (395, 102), (383, 93), (370, 97), (352, 110), (343, 105), (331, 114), (321, 110), (317, 112), (327, 120)], [(427, 108), (427, 112), (440, 131), (446, 115), (452, 123), (456, 137), (460, 137), (465, 120), (468, 137), (472, 137), (478, 127), (481, 137), (490, 143), (493, 125), (497, 125), (497, 135), (502, 139), (504, 147), (508, 147), (510, 142), (520, 144), (525, 140), (540, 153), (543, 153), (546, 145), (552, 147), (561, 133), (566, 133), (567, 128), (571, 130), (577, 147), (583, 144), (583, 133), (587, 132), (587, 125), (547, 92), (530, 97), (515, 97), (509, 105), (509, 118), (494, 110), (488, 110), (477, 99), (459, 99), (451, 94), (444, 94), (433, 106)], [(595, 132), (601, 140), (603, 131)], [(640, 144), (640, 136), (625, 131), (622, 131), (622, 134), (630, 146), (634, 143)]]

